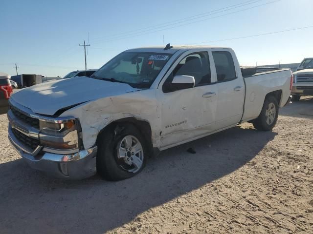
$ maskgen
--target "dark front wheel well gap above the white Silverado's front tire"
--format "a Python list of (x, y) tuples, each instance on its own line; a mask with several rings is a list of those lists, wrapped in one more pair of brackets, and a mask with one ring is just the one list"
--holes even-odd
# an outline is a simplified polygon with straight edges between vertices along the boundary
[(98, 137), (100, 136), (102, 132), (106, 130), (110, 130), (110, 129), (115, 129), (116, 126), (122, 126), (123, 124), (126, 124), (126, 123), (134, 124), (134, 126), (141, 132), (144, 139), (147, 141), (146, 143), (148, 144), (149, 149), (153, 148), (152, 131), (151, 131), (151, 126), (149, 122), (145, 120), (139, 120), (134, 117), (127, 117), (127, 118), (122, 118), (122, 119), (113, 121), (112, 123), (108, 124), (105, 128), (103, 128), (99, 132)]

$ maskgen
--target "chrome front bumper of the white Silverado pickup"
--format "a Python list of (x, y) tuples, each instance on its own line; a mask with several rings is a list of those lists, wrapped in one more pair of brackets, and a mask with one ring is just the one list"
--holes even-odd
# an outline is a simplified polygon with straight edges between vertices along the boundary
[(21, 149), (10, 128), (9, 140), (30, 167), (48, 175), (66, 179), (84, 179), (96, 174), (97, 146), (67, 155), (39, 153), (33, 156)]

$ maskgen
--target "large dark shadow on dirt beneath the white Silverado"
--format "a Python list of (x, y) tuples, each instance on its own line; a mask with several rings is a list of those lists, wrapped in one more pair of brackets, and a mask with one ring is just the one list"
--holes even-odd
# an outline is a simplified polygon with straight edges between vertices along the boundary
[[(102, 234), (199, 189), (253, 159), (277, 133), (235, 127), (150, 158), (131, 179), (53, 179), (19, 159), (0, 165), (3, 233)], [(187, 153), (192, 147), (195, 154)]]

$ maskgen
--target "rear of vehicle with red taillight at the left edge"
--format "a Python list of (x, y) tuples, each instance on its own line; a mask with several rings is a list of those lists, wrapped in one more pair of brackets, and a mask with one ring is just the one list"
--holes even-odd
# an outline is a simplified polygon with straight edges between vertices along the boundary
[(8, 100), (13, 93), (10, 78), (8, 74), (0, 72), (0, 114), (8, 111)]

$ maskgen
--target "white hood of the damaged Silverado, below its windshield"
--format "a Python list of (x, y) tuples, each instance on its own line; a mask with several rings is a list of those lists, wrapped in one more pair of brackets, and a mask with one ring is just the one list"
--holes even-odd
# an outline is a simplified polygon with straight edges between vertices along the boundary
[(136, 90), (124, 83), (76, 77), (24, 88), (11, 98), (34, 113), (53, 116), (60, 109)]

